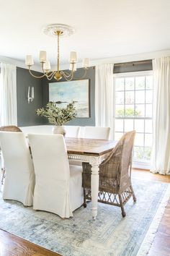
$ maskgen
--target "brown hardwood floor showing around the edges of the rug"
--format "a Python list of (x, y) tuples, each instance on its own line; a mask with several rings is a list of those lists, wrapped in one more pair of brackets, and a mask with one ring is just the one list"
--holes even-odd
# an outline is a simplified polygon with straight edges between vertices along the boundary
[[(170, 183), (170, 176), (151, 174), (149, 171), (133, 170), (133, 177), (138, 179), (155, 180), (158, 182)], [(170, 200), (166, 207), (161, 223), (158, 227), (156, 237), (153, 241), (148, 256), (170, 256)], [(20, 239), (17, 236), (0, 230), (0, 255), (1, 256), (57, 256), (55, 252), (50, 252), (35, 244)]]

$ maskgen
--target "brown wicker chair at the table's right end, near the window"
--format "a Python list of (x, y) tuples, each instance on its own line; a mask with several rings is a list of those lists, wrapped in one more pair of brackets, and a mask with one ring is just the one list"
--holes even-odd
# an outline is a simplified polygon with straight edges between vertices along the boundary
[[(131, 196), (136, 201), (131, 183), (132, 150), (135, 131), (127, 132), (117, 142), (109, 157), (99, 166), (98, 202), (119, 206), (122, 217), (126, 216), (124, 205)], [(91, 166), (83, 163), (84, 207), (91, 200)]]

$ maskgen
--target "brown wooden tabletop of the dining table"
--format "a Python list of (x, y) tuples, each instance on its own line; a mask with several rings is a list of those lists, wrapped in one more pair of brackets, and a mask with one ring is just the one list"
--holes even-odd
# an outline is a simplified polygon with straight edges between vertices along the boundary
[(114, 140), (65, 138), (68, 154), (103, 155), (115, 148)]

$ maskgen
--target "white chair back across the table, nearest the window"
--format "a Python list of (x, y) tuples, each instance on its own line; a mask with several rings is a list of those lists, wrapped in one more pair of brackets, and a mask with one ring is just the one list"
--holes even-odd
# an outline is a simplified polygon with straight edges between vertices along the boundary
[(84, 138), (109, 140), (109, 127), (84, 127)]

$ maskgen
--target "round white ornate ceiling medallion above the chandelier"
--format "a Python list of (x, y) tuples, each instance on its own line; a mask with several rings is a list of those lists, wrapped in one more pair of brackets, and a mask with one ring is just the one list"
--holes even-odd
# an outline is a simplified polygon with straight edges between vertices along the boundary
[(73, 33), (75, 33), (75, 29), (66, 24), (51, 24), (43, 28), (42, 31), (43, 33), (45, 33), (45, 35), (50, 35), (55, 38), (56, 38), (56, 31), (61, 31), (60, 35), (62, 36), (73, 35)]

